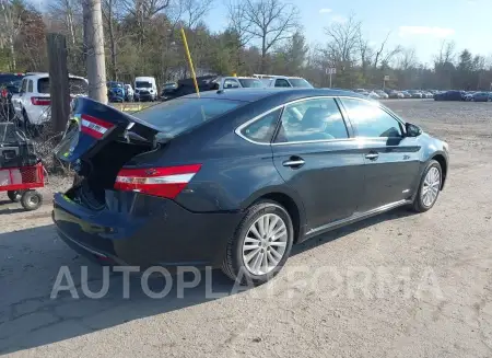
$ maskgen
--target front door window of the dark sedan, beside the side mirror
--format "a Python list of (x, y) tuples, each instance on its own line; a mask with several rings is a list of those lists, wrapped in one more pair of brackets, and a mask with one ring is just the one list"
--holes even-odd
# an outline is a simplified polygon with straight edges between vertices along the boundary
[(400, 123), (382, 109), (377, 103), (356, 99), (341, 99), (358, 137), (401, 138)]

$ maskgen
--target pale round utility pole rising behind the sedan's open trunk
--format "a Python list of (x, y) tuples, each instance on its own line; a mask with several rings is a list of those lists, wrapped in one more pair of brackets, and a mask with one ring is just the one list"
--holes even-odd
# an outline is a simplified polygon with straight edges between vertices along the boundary
[(103, 12), (101, 0), (82, 0), (89, 97), (107, 103), (106, 62), (104, 58)]

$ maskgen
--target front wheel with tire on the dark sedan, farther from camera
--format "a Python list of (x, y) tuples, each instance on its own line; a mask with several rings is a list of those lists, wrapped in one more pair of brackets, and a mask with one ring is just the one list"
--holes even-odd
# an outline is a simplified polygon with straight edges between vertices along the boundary
[(443, 183), (443, 170), (441, 164), (431, 160), (425, 168), (419, 184), (419, 190), (413, 199), (412, 209), (415, 212), (430, 210), (437, 201)]

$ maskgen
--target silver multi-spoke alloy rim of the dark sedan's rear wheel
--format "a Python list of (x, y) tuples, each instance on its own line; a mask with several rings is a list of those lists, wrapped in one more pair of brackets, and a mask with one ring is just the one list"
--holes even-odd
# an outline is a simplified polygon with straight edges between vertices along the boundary
[(253, 275), (266, 275), (277, 267), (285, 254), (288, 230), (276, 213), (259, 217), (243, 242), (243, 262)]

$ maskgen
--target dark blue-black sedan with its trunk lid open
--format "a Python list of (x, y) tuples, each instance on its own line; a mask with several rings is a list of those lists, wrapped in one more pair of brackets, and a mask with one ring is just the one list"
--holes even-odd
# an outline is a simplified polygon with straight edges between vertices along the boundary
[(54, 220), (69, 245), (117, 264), (261, 284), (293, 244), (431, 209), (448, 172), (445, 142), (353, 92), (210, 91), (134, 117), (78, 99), (73, 113), (57, 153), (79, 180), (55, 195)]

